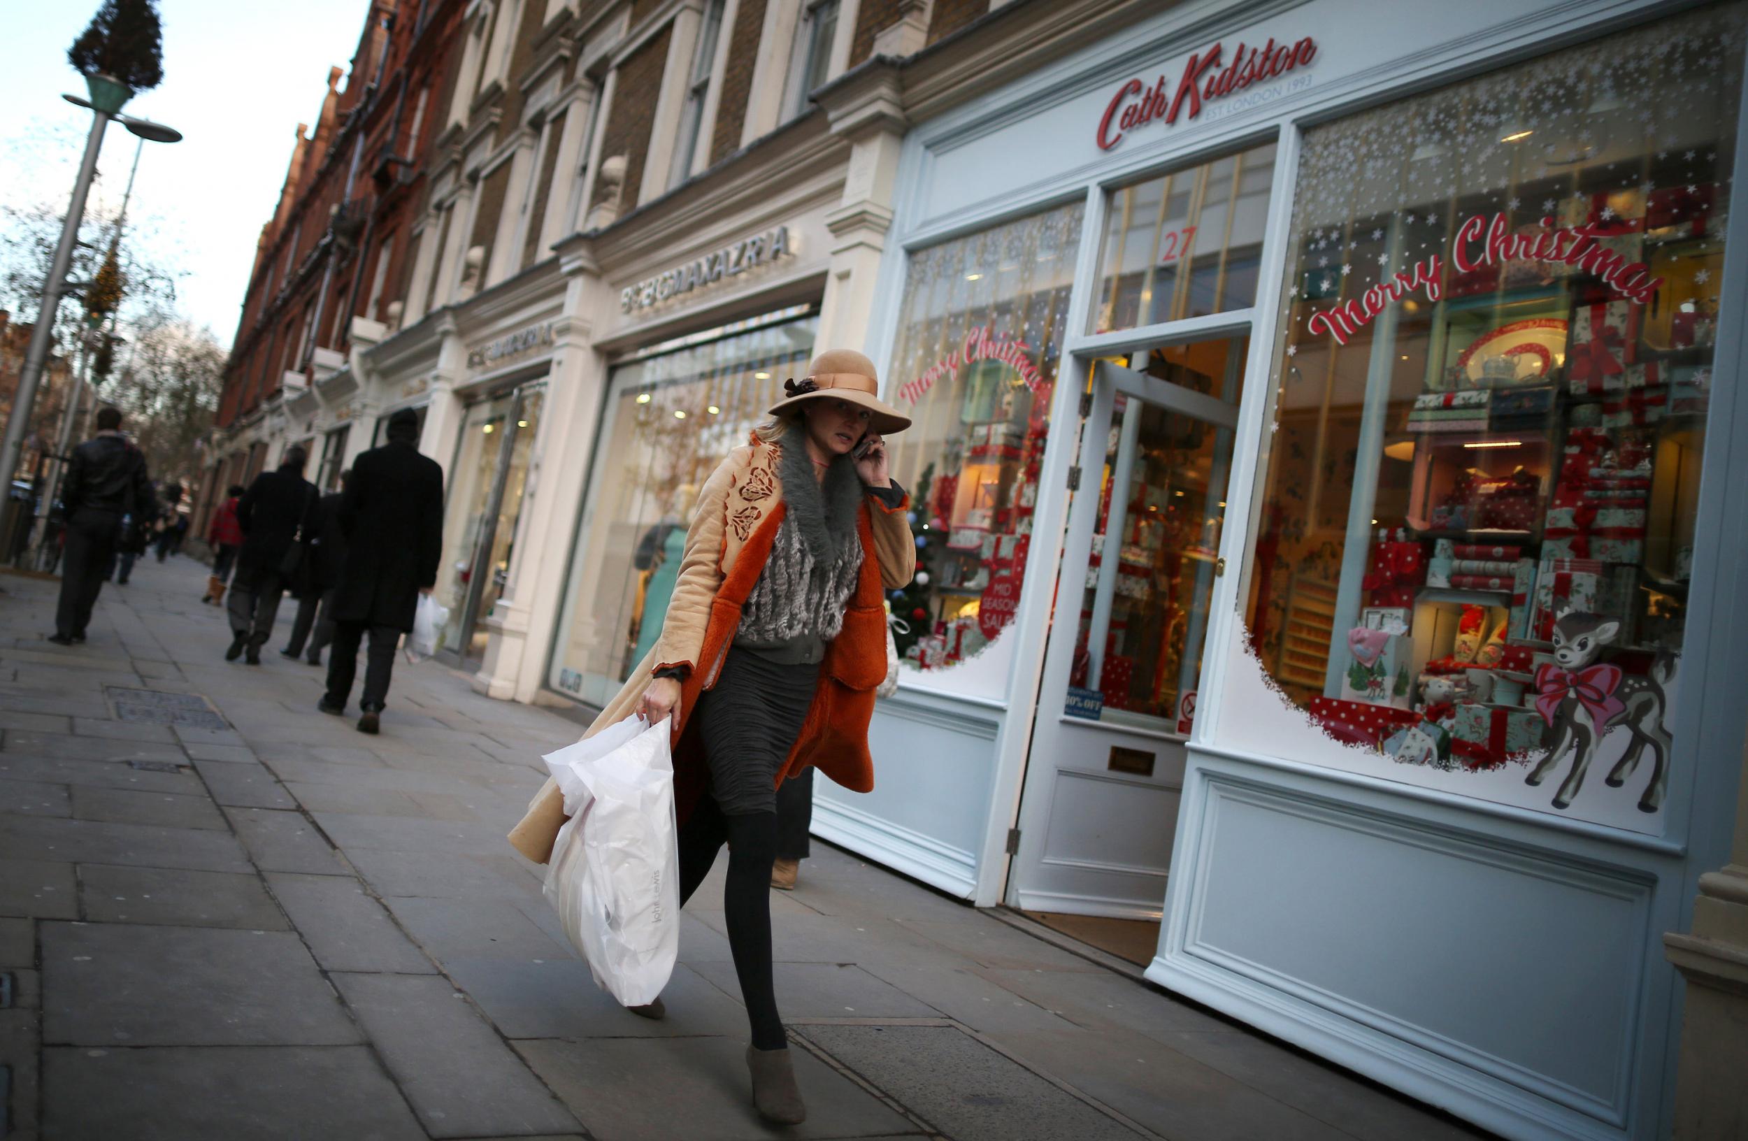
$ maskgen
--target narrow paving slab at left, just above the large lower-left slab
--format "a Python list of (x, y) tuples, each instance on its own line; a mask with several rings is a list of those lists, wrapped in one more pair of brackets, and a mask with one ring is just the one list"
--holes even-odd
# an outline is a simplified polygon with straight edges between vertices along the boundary
[(79, 893), (93, 923), (287, 931), (260, 877), (187, 868), (79, 865)]

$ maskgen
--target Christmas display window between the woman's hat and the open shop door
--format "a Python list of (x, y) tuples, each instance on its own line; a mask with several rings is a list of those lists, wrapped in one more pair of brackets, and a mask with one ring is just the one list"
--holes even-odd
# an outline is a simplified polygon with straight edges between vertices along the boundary
[(918, 575), (891, 605), (914, 669), (977, 657), (1014, 619), (1084, 213), (1059, 206), (905, 266), (890, 374), (914, 423), (891, 451)]

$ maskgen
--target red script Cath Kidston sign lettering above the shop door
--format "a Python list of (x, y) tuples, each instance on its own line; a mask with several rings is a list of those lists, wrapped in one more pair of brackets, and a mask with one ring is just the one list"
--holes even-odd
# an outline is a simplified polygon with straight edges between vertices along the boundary
[(1309, 75), (1285, 82), (1280, 89), (1264, 84), (1309, 66), (1313, 59), (1316, 59), (1316, 42), (1309, 35), (1297, 44), (1276, 44), (1274, 37), (1269, 37), (1262, 47), (1239, 40), (1238, 51), (1231, 56), (1225, 54), (1225, 44), (1190, 52), (1176, 86), (1164, 75), (1152, 87), (1143, 79), (1126, 82), (1105, 107), (1105, 117), (1098, 121), (1098, 145), (1101, 150), (1110, 150), (1129, 131), (1148, 122), (1169, 126), (1178, 115), (1199, 119), (1204, 103), (1229, 100), (1252, 87), (1255, 91), (1246, 103), (1297, 91), (1311, 82)]

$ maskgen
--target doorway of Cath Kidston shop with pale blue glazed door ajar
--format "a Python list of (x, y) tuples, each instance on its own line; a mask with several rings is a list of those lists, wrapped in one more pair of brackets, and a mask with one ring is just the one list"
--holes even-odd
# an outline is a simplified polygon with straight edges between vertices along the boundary
[(1245, 337), (1092, 369), (1009, 903), (1147, 963), (1218, 563)]

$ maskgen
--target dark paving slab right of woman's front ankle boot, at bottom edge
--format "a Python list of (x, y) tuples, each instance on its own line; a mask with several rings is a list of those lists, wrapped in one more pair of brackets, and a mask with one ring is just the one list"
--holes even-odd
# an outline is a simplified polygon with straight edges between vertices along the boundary
[[(802, 1036), (954, 1141), (1143, 1134), (954, 1026), (809, 1026)], [(1023, 1125), (1021, 1125), (1023, 1124)]]

